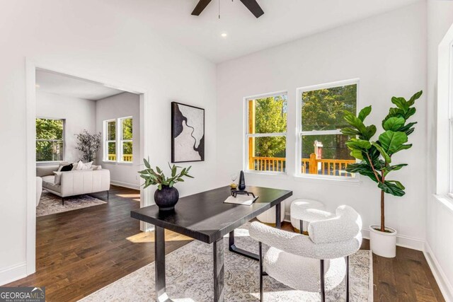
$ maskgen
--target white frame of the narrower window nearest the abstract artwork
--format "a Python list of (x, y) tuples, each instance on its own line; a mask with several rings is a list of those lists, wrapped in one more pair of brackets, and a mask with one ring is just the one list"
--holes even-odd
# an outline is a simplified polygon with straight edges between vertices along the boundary
[[(287, 161), (287, 147), (288, 147), (288, 137), (287, 137), (287, 131), (286, 132), (276, 132), (276, 133), (255, 133), (251, 134), (248, 132), (248, 101), (249, 100), (256, 100), (258, 98), (270, 98), (270, 97), (276, 97), (280, 95), (286, 95), (287, 102), (288, 102), (288, 92), (287, 91), (277, 91), (273, 93), (264, 93), (260, 95), (251, 95), (246, 98), (243, 98), (243, 104), (244, 104), (244, 129), (243, 133), (245, 134), (243, 137), (243, 170), (246, 171), (247, 173), (257, 173), (257, 174), (269, 174), (269, 175), (282, 175), (282, 174), (287, 174), (287, 167), (288, 167), (288, 161)], [(288, 129), (288, 118), (286, 120), (286, 128)], [(248, 139), (250, 137), (285, 137), (285, 172), (279, 172), (279, 171), (260, 171), (260, 170), (250, 170), (248, 168)]]

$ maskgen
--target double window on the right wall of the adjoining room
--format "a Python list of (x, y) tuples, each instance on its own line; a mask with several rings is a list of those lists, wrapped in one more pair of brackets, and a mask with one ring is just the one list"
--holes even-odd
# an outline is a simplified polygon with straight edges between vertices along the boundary
[(104, 161), (132, 163), (132, 117), (104, 121)]

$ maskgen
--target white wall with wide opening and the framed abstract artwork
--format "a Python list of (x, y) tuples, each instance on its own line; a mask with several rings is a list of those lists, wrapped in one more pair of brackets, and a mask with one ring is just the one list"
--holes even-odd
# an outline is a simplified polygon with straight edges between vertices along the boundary
[(2, 1), (0, 136), (16, 149), (11, 153), (0, 148), (0, 156), (8, 158), (2, 168), (11, 171), (0, 174), (0, 284), (27, 271), (25, 58), (45, 69), (147, 91), (147, 147), (155, 165), (166, 166), (171, 159), (171, 101), (205, 108), (205, 161), (192, 163), (195, 180), (178, 184), (178, 190), (185, 195), (217, 185), (216, 66), (155, 35), (147, 23), (147, 5), (122, 0)]

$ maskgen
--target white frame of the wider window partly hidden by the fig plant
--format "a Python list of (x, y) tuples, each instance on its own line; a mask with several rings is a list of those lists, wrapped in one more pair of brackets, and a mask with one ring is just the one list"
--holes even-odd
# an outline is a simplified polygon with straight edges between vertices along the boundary
[(296, 119), (297, 119), (297, 127), (296, 127), (296, 171), (295, 176), (297, 178), (317, 178), (317, 179), (324, 179), (324, 180), (345, 180), (345, 181), (354, 181), (357, 182), (359, 180), (359, 174), (355, 173), (355, 177), (347, 177), (347, 176), (335, 176), (335, 175), (319, 175), (319, 174), (309, 174), (309, 173), (302, 173), (302, 136), (303, 135), (328, 135), (328, 134), (341, 134), (340, 129), (336, 130), (322, 130), (322, 131), (302, 131), (302, 93), (306, 91), (316, 91), (319, 89), (326, 89), (326, 88), (334, 88), (338, 86), (348, 86), (348, 85), (357, 85), (357, 100), (356, 100), (356, 114), (359, 108), (359, 85), (360, 79), (349, 79), (343, 81), (335, 81), (330, 83), (323, 83), (319, 85), (313, 86), (306, 86), (297, 88), (297, 110), (296, 110)]

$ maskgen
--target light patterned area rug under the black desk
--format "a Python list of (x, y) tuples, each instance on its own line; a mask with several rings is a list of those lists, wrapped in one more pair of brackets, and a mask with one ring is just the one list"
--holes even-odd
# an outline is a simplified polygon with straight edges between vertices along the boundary
[[(236, 229), (236, 245), (258, 252), (247, 226)], [(258, 262), (228, 251), (224, 240), (225, 301), (259, 301)], [(212, 245), (194, 240), (166, 256), (166, 291), (171, 301), (213, 301)], [(319, 293), (295, 291), (264, 277), (265, 301), (320, 301)], [(80, 301), (156, 301), (154, 262), (119, 279)], [(372, 253), (360, 250), (350, 256), (350, 301), (372, 301)], [(327, 301), (345, 301), (344, 281), (326, 293)]]

